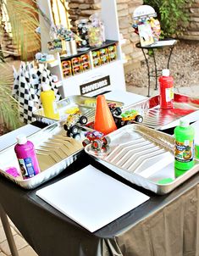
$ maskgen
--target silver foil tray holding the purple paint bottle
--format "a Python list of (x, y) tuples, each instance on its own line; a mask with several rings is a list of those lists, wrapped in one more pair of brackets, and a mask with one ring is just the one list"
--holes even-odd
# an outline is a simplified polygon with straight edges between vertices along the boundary
[(32, 178), (26, 180), (21, 176), (15, 178), (5, 171), (8, 167), (15, 167), (20, 173), (14, 145), (0, 152), (0, 174), (26, 189), (35, 188), (58, 175), (77, 159), (83, 149), (81, 142), (66, 136), (59, 122), (29, 136), (28, 140), (35, 145), (41, 169), (41, 172)]

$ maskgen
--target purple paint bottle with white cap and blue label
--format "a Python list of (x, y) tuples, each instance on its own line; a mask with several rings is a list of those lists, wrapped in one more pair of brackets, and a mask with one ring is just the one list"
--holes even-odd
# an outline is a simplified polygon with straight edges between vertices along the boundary
[(40, 172), (35, 148), (32, 142), (27, 141), (25, 135), (17, 136), (14, 151), (19, 161), (19, 167), (24, 179), (31, 178)]

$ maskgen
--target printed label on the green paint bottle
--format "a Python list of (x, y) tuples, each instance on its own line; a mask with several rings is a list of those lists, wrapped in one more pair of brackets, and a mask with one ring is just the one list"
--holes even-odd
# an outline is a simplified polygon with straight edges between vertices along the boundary
[(189, 163), (194, 159), (194, 141), (175, 142), (174, 159), (181, 163)]

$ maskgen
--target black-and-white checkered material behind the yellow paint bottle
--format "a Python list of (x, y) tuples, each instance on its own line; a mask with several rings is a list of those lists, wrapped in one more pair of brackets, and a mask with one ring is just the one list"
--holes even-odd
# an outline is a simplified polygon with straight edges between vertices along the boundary
[(53, 82), (53, 75), (47, 66), (39, 64), (38, 68), (33, 63), (21, 63), (19, 70), (14, 69), (14, 86), (12, 95), (19, 102), (19, 111), (22, 120), (27, 124), (35, 121), (34, 111), (41, 107), (41, 83), (48, 83), (55, 92), (56, 100), (61, 96)]

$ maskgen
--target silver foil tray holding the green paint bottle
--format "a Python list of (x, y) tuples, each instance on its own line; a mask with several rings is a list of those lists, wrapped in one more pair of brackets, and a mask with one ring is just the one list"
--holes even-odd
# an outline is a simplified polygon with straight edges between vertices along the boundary
[(90, 145), (85, 147), (86, 153), (127, 181), (157, 194), (171, 192), (199, 170), (197, 160), (181, 175), (174, 170), (174, 137), (161, 131), (125, 125), (108, 136), (111, 142), (106, 153), (98, 153)]

